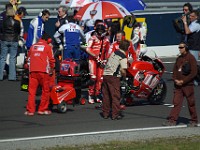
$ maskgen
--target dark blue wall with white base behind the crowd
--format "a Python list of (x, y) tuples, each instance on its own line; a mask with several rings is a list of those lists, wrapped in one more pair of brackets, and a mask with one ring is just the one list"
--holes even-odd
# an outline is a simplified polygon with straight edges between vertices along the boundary
[[(146, 18), (148, 27), (147, 41), (148, 50), (154, 50), (158, 56), (175, 56), (180, 34), (175, 31), (172, 20), (181, 16), (178, 12), (135, 14), (136, 17)], [(24, 19), (25, 31), (28, 30), (31, 19)], [(56, 18), (50, 18), (45, 25), (45, 30), (51, 36), (55, 33), (54, 26)]]

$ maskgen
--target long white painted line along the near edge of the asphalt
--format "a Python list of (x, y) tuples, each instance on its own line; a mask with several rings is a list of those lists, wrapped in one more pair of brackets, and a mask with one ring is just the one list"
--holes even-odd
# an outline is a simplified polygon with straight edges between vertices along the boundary
[[(120, 133), (120, 132), (164, 130), (164, 129), (185, 128), (185, 127), (187, 127), (187, 125), (165, 126), (165, 127), (149, 127), (149, 128), (137, 128), (137, 129), (123, 129), (123, 130), (109, 130), (109, 131), (85, 132), (85, 133), (74, 133), (74, 134), (61, 134), (61, 135), (51, 135), (51, 136), (38, 136), (38, 137), (28, 137), (28, 138), (5, 139), (5, 140), (0, 140), (0, 143), (3, 143), (3, 142), (15, 142), (15, 141), (28, 141), (28, 140), (39, 140), (39, 139), (58, 138), (58, 137)], [(198, 124), (198, 127), (200, 127), (200, 124)]]

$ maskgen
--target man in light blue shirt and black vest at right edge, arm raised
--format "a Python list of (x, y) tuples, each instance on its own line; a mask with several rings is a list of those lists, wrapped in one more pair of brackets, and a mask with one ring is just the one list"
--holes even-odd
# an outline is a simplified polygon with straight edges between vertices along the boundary
[(199, 12), (197, 10), (191, 11), (189, 18), (190, 24), (187, 23), (186, 16), (182, 17), (184, 22), (185, 34), (187, 35), (187, 43), (190, 53), (198, 60), (200, 55), (200, 24), (197, 22)]

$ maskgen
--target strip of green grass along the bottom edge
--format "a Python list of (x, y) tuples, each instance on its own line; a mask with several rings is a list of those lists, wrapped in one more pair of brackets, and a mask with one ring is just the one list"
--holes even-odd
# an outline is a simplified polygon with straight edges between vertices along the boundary
[(113, 141), (104, 144), (55, 147), (47, 150), (200, 150), (200, 136), (153, 139), (140, 142)]

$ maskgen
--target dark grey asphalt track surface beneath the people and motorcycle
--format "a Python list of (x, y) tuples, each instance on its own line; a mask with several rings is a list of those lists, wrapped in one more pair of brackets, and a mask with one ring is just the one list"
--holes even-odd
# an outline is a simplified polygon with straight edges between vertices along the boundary
[[(174, 59), (162, 59), (167, 71), (172, 71)], [(163, 105), (150, 105), (145, 100), (136, 100), (124, 111), (122, 120), (103, 119), (98, 104), (69, 105), (67, 113), (53, 112), (50, 116), (25, 116), (28, 93), (20, 91), (20, 82), (0, 82), (0, 140), (78, 134), (88, 132), (160, 127), (170, 112), (173, 98), (171, 74), (166, 72), (167, 97)], [(200, 120), (200, 87), (195, 87), (196, 107)], [(37, 97), (39, 101), (40, 97)], [(184, 101), (178, 120), (179, 125), (189, 122), (187, 103)]]

